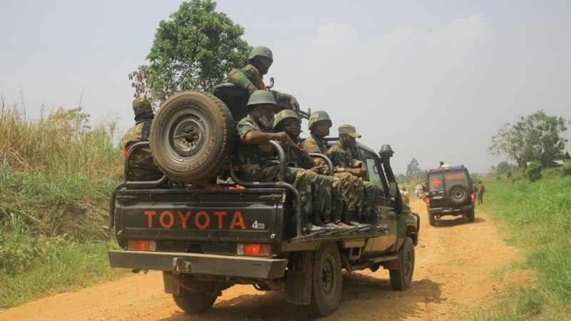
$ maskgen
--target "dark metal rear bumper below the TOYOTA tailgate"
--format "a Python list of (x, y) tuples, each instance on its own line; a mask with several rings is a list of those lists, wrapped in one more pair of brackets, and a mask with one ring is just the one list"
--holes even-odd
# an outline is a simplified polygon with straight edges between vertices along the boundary
[(111, 267), (234, 277), (283, 277), (288, 260), (197, 253), (108, 251)]

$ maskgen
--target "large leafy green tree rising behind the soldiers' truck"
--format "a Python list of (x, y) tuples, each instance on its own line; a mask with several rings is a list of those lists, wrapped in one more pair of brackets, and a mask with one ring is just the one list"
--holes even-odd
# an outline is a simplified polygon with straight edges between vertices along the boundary
[(215, 9), (211, 0), (187, 1), (159, 23), (146, 56), (151, 63), (129, 75), (135, 96), (161, 102), (178, 91), (211, 92), (246, 63), (252, 48), (240, 38), (244, 29)]

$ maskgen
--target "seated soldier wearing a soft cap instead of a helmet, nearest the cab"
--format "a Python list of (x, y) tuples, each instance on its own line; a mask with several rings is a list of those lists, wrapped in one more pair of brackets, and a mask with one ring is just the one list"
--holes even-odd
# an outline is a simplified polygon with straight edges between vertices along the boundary
[[(350, 151), (351, 148), (355, 147), (355, 141), (360, 137), (355, 131), (355, 126), (339, 126), (339, 140), (329, 148), (328, 156), (338, 170), (351, 173), (358, 178), (365, 178), (367, 174), (365, 164), (362, 161), (353, 161), (353, 157), (348, 155), (348, 150)], [(380, 228), (380, 225), (377, 224), (378, 209), (375, 205), (378, 198), (378, 188), (368, 180), (362, 181), (364, 188), (363, 204), (355, 204), (356, 215), (354, 217), (360, 215), (361, 223), (370, 223), (371, 230), (375, 230)]]

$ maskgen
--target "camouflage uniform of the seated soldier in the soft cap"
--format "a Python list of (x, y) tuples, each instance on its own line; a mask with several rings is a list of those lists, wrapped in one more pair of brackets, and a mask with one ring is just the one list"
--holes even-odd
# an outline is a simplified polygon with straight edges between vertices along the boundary
[[(353, 163), (349, 164), (347, 151), (345, 151), (339, 141), (329, 148), (328, 156), (335, 168), (342, 172), (345, 168), (360, 168), (363, 163), (362, 161), (354, 160)], [(363, 222), (368, 223), (368, 217), (373, 217), (373, 214), (377, 213), (375, 202), (378, 196), (378, 188), (374, 183), (363, 180), (363, 178), (358, 178), (355, 183), (357, 184), (355, 185), (355, 193), (358, 195), (358, 201), (355, 203), (355, 214), (360, 217)]]

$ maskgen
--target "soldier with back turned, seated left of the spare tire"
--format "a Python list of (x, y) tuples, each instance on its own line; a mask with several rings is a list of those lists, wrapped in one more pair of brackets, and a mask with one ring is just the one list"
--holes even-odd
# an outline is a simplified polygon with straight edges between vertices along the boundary
[[(125, 133), (121, 138), (123, 144), (123, 159), (126, 156), (128, 148), (134, 143), (148, 141), (148, 133), (151, 128), (151, 122), (155, 114), (151, 103), (146, 98), (136, 98), (133, 101), (133, 112), (135, 113), (135, 126)], [(151, 156), (149, 148), (138, 148), (131, 154), (129, 162), (128, 180), (159, 180), (163, 177), (161, 170), (157, 168)]]

